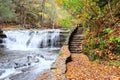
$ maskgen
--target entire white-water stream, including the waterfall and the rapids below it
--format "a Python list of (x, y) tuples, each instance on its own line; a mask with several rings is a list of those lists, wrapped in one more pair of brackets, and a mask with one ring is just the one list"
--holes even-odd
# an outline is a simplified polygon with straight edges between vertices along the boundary
[(35, 80), (58, 57), (60, 30), (4, 31), (0, 44), (0, 80)]

